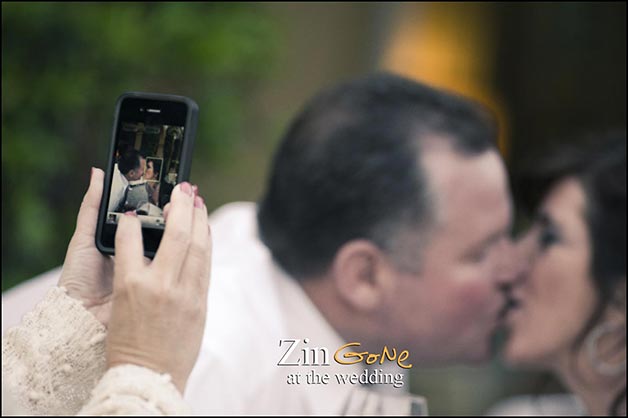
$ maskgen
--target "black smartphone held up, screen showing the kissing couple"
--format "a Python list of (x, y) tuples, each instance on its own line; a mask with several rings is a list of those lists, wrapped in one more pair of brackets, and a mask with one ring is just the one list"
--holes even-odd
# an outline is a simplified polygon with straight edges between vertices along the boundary
[(164, 206), (190, 175), (198, 105), (183, 96), (129, 92), (115, 109), (96, 248), (114, 255), (118, 221), (134, 211), (144, 255), (153, 258), (164, 233)]

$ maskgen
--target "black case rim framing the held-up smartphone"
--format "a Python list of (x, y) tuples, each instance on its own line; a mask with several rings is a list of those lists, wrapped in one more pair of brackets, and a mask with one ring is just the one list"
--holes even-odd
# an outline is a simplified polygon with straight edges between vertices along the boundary
[[(98, 248), (101, 253), (106, 255), (115, 255), (115, 247), (108, 247), (102, 243), (102, 233), (107, 215), (108, 196), (111, 191), (111, 177), (113, 175), (112, 167), (114, 165), (113, 158), (116, 151), (116, 130), (120, 118), (120, 107), (122, 106), (122, 101), (127, 98), (175, 101), (183, 102), (187, 105), (189, 111), (185, 121), (183, 148), (181, 150), (181, 163), (179, 165), (177, 183), (187, 181), (190, 178), (190, 170), (192, 168), (192, 151), (194, 150), (194, 138), (196, 137), (196, 127), (198, 124), (198, 105), (189, 97), (143, 92), (126, 92), (118, 97), (114, 112), (113, 129), (111, 131), (111, 146), (109, 147), (109, 159), (107, 163), (107, 171), (105, 172), (105, 183), (103, 185), (103, 194), (100, 201), (100, 211), (98, 212), (98, 226), (96, 228), (96, 248)], [(155, 256), (155, 252), (144, 249), (144, 256), (153, 258)]]

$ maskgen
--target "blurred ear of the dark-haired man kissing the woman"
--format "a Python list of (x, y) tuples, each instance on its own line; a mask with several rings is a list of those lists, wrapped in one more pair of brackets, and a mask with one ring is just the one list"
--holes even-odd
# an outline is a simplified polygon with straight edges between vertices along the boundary
[(379, 309), (393, 285), (386, 255), (367, 240), (353, 240), (336, 252), (332, 279), (340, 297), (357, 311)]

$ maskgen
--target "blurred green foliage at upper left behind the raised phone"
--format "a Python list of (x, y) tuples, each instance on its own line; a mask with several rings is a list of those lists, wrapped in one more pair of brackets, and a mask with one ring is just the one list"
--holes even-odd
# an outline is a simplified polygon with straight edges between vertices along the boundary
[(237, 145), (276, 44), (251, 3), (3, 2), (2, 290), (62, 263), (118, 95), (194, 98), (194, 160), (210, 165)]

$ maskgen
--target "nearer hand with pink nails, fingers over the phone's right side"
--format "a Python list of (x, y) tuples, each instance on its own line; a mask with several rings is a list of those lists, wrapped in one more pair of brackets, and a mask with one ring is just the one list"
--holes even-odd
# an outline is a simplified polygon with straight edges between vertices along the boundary
[(212, 244), (203, 199), (187, 182), (174, 188), (163, 243), (150, 263), (142, 257), (141, 223), (132, 212), (120, 220), (116, 248), (107, 367), (134, 364), (169, 373), (183, 393), (207, 311)]

